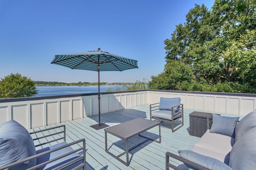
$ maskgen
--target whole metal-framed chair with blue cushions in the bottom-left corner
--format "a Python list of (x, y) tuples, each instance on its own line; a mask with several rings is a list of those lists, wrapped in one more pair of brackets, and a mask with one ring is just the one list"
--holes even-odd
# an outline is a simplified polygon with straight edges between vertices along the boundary
[(65, 125), (31, 133), (14, 120), (0, 126), (0, 170), (85, 168), (85, 139), (66, 143)]

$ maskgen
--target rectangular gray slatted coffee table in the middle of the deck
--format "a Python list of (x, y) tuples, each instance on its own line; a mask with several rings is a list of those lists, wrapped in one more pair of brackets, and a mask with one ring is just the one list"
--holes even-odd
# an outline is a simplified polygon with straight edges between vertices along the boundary
[[(152, 121), (152, 120), (148, 120), (148, 119), (143, 119), (143, 118), (136, 118), (130, 121), (126, 121), (124, 123), (120, 123), (119, 125), (114, 125), (112, 127), (108, 127), (106, 129), (104, 129), (105, 131), (105, 150), (108, 154), (110, 154), (111, 156), (113, 156), (114, 158), (116, 158), (117, 160), (119, 160), (120, 162), (122, 162), (123, 164), (125, 164), (126, 166), (129, 165), (129, 151), (134, 149), (135, 147), (137, 147), (138, 145), (146, 142), (148, 139), (138, 143), (137, 145), (128, 148), (128, 139), (135, 137), (136, 135), (140, 135), (140, 133), (143, 133), (155, 126), (159, 126), (159, 141), (154, 140), (154, 139), (150, 139), (153, 141), (156, 141), (158, 143), (161, 143), (161, 131), (160, 131), (160, 123), (159, 121)], [(114, 135), (120, 139), (123, 139), (126, 142), (126, 151), (119, 154), (118, 156), (112, 154), (111, 152), (108, 151), (108, 147), (107, 147), (107, 133), (110, 133), (111, 135)], [(145, 137), (145, 136), (143, 136)], [(145, 137), (147, 138), (147, 137)], [(119, 157), (124, 155), (126, 153), (126, 162), (124, 162), (122, 159), (120, 159)]]

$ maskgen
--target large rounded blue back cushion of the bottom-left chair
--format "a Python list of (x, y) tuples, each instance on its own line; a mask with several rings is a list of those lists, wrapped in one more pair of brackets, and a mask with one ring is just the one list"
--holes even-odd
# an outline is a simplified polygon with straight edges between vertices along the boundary
[[(36, 154), (35, 145), (28, 131), (14, 120), (0, 126), (0, 166)], [(26, 169), (36, 165), (36, 159), (10, 169)]]

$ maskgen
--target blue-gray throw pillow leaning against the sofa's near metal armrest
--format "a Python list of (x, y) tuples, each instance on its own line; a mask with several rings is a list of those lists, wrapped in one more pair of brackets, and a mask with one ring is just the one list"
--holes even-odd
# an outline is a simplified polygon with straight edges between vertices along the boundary
[[(190, 160), (192, 162), (200, 164), (206, 168), (209, 168), (212, 170), (220, 170), (220, 169), (221, 170), (232, 170), (225, 163), (223, 163), (217, 159), (211, 158), (209, 156), (204, 156), (202, 154), (198, 154), (191, 150), (178, 150), (178, 152), (182, 158), (185, 158), (187, 160)], [(197, 170), (196, 168), (189, 166), (188, 164), (185, 164), (185, 166), (188, 170)]]

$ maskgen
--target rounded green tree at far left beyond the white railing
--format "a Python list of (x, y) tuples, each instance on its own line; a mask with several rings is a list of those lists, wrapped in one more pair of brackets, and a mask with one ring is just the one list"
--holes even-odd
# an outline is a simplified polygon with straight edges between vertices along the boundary
[(35, 83), (21, 74), (10, 74), (1, 78), (0, 98), (23, 98), (38, 94)]

